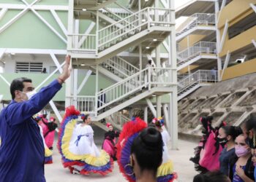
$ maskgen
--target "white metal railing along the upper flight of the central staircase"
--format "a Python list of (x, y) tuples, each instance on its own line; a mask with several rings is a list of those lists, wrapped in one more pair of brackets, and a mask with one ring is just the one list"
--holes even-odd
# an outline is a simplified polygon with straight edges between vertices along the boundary
[[(104, 50), (151, 26), (168, 26), (171, 24), (170, 15), (170, 9), (147, 7), (108, 25), (97, 32), (99, 50)], [(118, 28), (118, 25), (123, 26)]]

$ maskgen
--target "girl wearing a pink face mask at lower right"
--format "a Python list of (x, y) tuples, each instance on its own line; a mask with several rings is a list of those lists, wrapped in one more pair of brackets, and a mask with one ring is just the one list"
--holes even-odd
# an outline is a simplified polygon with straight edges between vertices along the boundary
[(245, 142), (244, 134), (238, 135), (235, 147), (236, 157), (230, 159), (229, 177), (233, 182), (253, 182), (254, 165), (249, 145)]

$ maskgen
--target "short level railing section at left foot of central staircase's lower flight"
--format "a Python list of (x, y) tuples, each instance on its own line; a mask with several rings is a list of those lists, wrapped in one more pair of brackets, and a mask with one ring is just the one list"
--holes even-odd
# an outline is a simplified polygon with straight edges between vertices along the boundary
[(96, 115), (95, 96), (67, 96), (70, 98), (70, 105), (74, 105), (78, 111), (86, 111), (88, 114)]

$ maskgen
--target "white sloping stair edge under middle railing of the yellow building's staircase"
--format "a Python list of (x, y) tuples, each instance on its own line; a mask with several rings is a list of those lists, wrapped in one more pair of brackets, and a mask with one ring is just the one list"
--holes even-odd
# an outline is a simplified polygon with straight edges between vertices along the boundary
[(207, 64), (211, 65), (216, 63), (217, 55), (214, 54), (200, 54), (197, 57), (187, 60), (185, 63), (177, 63), (177, 71), (180, 71), (183, 68), (186, 68), (189, 65), (193, 66), (205, 66)]

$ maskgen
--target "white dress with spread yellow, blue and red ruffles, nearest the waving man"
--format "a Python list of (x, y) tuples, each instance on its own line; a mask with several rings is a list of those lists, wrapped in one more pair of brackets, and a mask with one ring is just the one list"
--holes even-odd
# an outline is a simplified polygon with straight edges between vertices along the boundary
[(77, 124), (79, 115), (80, 111), (69, 106), (61, 122), (58, 148), (64, 167), (69, 167), (71, 173), (75, 170), (83, 175), (112, 172), (113, 161), (107, 152), (97, 149), (91, 126)]

